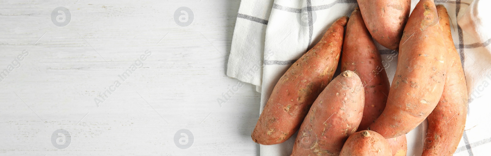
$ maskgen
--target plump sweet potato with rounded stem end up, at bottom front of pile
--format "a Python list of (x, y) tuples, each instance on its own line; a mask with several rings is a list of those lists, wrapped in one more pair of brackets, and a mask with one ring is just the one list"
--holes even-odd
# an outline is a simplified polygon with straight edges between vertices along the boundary
[(292, 156), (339, 156), (363, 115), (363, 85), (355, 72), (334, 78), (315, 100), (300, 126)]

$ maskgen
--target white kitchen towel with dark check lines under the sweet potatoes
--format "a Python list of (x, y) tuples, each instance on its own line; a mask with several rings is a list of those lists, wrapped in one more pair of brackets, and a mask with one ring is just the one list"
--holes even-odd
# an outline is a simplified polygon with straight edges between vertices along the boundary
[[(411, 1), (411, 10), (418, 1)], [(461, 54), (469, 91), (466, 131), (455, 156), (489, 155), (491, 10), (487, 8), (491, 1), (435, 2), (444, 5), (451, 17), (452, 36)], [(274, 85), (288, 67), (315, 45), (335, 20), (349, 16), (356, 6), (356, 0), (242, 0), (227, 75), (261, 89), (261, 112)], [(382, 64), (392, 81), (398, 53), (381, 45), (378, 47)], [(421, 155), (425, 132), (420, 125), (407, 134), (408, 156)], [(295, 138), (296, 135), (277, 145), (261, 145), (261, 156), (289, 156)]]

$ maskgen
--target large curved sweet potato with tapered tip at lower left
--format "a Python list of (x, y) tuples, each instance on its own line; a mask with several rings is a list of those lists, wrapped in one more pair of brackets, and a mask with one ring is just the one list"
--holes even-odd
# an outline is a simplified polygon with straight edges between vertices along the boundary
[(423, 122), (443, 92), (446, 53), (435, 3), (420, 0), (404, 28), (387, 105), (368, 129), (393, 138)]

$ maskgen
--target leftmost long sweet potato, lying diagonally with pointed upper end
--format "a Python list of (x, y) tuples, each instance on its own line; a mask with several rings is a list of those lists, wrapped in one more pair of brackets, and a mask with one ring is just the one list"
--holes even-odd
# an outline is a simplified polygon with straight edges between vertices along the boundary
[(319, 43), (279, 79), (251, 134), (254, 142), (279, 144), (299, 130), (310, 106), (334, 75), (347, 21), (348, 17), (341, 17), (334, 22)]

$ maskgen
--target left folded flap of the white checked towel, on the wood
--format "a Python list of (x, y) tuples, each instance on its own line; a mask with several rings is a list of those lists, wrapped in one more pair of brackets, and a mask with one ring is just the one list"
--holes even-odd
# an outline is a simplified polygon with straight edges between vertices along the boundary
[(264, 35), (273, 0), (242, 0), (228, 58), (227, 75), (261, 91)]

